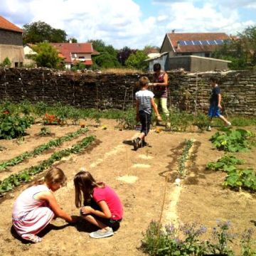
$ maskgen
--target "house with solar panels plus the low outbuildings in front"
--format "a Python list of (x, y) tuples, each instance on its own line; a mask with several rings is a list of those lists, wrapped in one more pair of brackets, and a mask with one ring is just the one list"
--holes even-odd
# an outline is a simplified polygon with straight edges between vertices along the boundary
[(210, 57), (225, 41), (232, 39), (225, 33), (166, 33), (160, 55), (146, 60), (149, 62), (149, 71), (153, 70), (154, 63), (160, 63), (164, 70), (227, 70), (229, 60)]

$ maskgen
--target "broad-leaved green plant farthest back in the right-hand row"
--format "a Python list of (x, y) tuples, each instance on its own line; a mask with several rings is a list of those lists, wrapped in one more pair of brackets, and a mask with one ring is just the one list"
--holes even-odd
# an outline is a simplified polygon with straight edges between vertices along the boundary
[(247, 151), (250, 149), (250, 144), (247, 141), (248, 138), (252, 137), (252, 132), (246, 131), (245, 129), (230, 129), (225, 128), (223, 132), (216, 132), (210, 137), (210, 141), (213, 142), (217, 149), (239, 152)]

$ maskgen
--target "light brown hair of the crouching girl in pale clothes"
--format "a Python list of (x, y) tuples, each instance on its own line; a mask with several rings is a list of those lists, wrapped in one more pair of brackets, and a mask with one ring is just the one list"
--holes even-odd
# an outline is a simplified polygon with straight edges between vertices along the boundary
[(61, 186), (65, 186), (67, 182), (67, 177), (65, 176), (62, 169), (52, 166), (44, 178), (33, 183), (33, 185), (40, 185), (46, 183), (47, 185), (52, 185), (54, 183), (60, 183)]

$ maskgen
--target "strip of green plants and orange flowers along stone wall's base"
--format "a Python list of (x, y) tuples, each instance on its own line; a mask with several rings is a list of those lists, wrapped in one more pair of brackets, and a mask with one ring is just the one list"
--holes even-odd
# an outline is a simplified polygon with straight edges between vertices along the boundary
[[(100, 124), (100, 118), (116, 119), (119, 127), (122, 129), (134, 129), (136, 126), (135, 108), (129, 110), (97, 110), (97, 109), (80, 109), (70, 105), (63, 105), (56, 102), (49, 105), (46, 102), (36, 102), (32, 104), (27, 100), (21, 103), (1, 102), (1, 113), (10, 112), (12, 115), (23, 114), (25, 116), (33, 116), (41, 118), (44, 124), (65, 124), (67, 120), (71, 120), (72, 124), (77, 124), (80, 119), (95, 119)], [(163, 116), (163, 119), (166, 117)], [(153, 121), (155, 118), (153, 117)], [(231, 122), (235, 126), (245, 126), (256, 124), (256, 118), (231, 117)], [(208, 117), (202, 112), (189, 114), (176, 109), (170, 109), (169, 121), (171, 130), (176, 132), (186, 132), (189, 127), (196, 126), (199, 131), (204, 131), (209, 124)], [(218, 119), (213, 121), (213, 126), (220, 126)]]

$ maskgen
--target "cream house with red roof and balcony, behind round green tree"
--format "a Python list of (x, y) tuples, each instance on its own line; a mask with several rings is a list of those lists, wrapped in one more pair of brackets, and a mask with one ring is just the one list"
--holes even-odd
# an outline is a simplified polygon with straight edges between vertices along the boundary
[(92, 48), (92, 43), (50, 43), (63, 58), (65, 68), (70, 69), (76, 63), (82, 63), (86, 67), (92, 65), (92, 55), (100, 54)]

